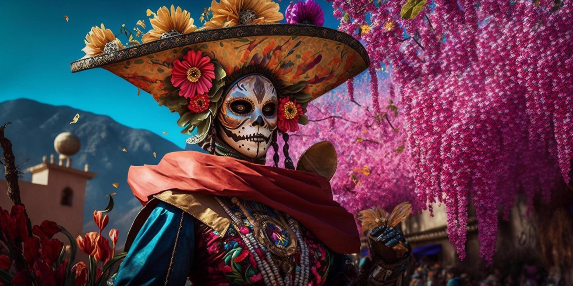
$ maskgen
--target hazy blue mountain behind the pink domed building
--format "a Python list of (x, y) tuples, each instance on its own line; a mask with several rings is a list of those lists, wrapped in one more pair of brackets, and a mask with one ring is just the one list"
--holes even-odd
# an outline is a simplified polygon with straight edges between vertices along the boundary
[[(80, 120), (70, 125), (76, 113), (80, 113)], [(109, 116), (28, 99), (0, 102), (0, 124), (4, 122), (12, 123), (5, 133), (13, 144), (14, 155), (21, 170), (39, 164), (45, 155), (54, 154), (57, 160), (53, 142), (61, 132), (72, 132), (80, 138), (81, 149), (72, 157), (72, 167), (83, 170), (87, 163), (89, 170), (97, 173), (87, 184), (84, 232), (96, 230), (92, 222), (93, 210), (104, 209), (108, 201), (105, 195), (116, 192), (113, 197), (115, 208), (108, 214), (110, 220), (107, 229), (119, 230), (119, 249), (123, 247), (132, 220), (141, 208), (127, 185), (129, 166), (158, 164), (164, 154), (182, 150), (161, 136), (148, 130), (121, 125)], [(127, 153), (121, 150), (123, 148), (127, 149)], [(199, 148), (194, 145), (186, 149)], [(0, 176), (3, 176), (1, 173)], [(31, 175), (25, 173), (22, 180), (30, 178)], [(119, 188), (112, 186), (114, 182), (119, 182)]]

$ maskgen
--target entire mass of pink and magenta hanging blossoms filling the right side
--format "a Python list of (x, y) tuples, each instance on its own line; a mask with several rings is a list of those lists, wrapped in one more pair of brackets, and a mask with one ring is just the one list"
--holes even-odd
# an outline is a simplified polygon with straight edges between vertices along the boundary
[[(293, 134), (300, 140), (289, 141), (292, 153), (319, 139), (333, 141), (340, 156), (333, 190), (351, 211), (412, 196), (417, 206), (443, 201), (448, 236), (461, 259), (473, 202), (480, 255), (491, 261), (497, 206), (507, 217), (517, 192), (530, 202), (537, 196), (548, 201), (559, 180), (570, 180), (573, 5), (333, 0), (333, 6), (340, 30), (368, 50), (370, 89), (356, 85), (353, 96), (349, 84), (348, 94), (336, 90), (309, 105), (308, 117), (320, 121)], [(382, 66), (390, 69), (387, 88), (396, 98), (388, 97), (397, 118), (378, 95)], [(383, 114), (398, 135), (378, 124)], [(402, 144), (403, 152), (394, 152)], [(368, 176), (355, 170), (363, 165)]]

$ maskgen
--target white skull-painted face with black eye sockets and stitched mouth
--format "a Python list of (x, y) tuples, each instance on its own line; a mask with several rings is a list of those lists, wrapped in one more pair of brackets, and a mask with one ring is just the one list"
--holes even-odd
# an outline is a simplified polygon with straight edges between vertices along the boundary
[(218, 114), (218, 134), (249, 158), (265, 156), (277, 128), (277, 93), (268, 78), (246, 76), (232, 86)]

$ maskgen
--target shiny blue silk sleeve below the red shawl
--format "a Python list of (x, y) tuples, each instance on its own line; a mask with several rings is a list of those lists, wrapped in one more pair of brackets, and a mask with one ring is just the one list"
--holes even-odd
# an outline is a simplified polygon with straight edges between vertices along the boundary
[(183, 286), (193, 261), (193, 217), (159, 202), (135, 237), (114, 286)]

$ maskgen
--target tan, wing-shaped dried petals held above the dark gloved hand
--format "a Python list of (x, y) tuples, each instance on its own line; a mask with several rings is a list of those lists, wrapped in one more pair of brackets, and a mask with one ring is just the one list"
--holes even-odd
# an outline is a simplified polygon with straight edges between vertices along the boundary
[[(380, 208), (380, 206), (376, 206), (375, 209), (365, 209), (362, 210), (362, 212), (359, 212), (358, 220), (362, 223), (362, 231), (364, 233), (369, 233), (372, 229), (379, 227), (380, 225), (384, 227), (395, 227), (410, 216), (411, 212), (412, 205), (406, 201), (395, 206), (392, 213), (390, 213), (390, 216), (388, 216), (388, 213)], [(402, 242), (394, 245), (392, 249), (401, 255), (408, 251), (408, 248), (406, 248)]]

